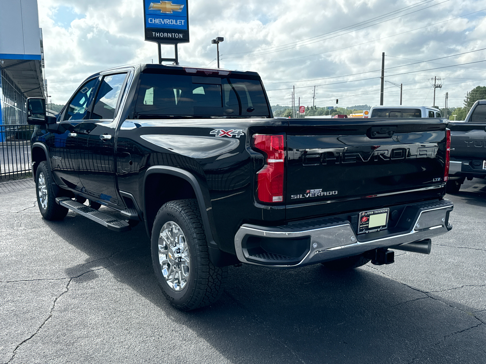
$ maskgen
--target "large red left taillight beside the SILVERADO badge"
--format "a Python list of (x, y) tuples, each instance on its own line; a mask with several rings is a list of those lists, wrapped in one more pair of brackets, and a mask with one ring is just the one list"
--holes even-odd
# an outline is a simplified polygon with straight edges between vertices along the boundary
[(285, 151), (283, 135), (253, 135), (253, 147), (266, 154), (266, 165), (257, 172), (257, 197), (261, 202), (283, 202)]

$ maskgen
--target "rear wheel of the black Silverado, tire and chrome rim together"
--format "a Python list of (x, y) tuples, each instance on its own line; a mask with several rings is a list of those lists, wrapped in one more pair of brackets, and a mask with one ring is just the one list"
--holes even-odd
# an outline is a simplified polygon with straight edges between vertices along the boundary
[(209, 261), (195, 199), (164, 204), (156, 215), (151, 243), (158, 285), (175, 308), (193, 310), (221, 296), (228, 268), (216, 267)]

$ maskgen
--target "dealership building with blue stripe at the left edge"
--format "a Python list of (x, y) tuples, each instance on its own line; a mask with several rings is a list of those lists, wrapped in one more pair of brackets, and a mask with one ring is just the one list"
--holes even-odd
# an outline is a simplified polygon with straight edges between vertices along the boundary
[(37, 0), (0, 5), (0, 125), (25, 124), (25, 99), (47, 99)]

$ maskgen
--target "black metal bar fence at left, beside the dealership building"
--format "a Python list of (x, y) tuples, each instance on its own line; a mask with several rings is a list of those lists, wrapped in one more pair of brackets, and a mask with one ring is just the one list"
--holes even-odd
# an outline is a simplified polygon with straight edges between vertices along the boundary
[(0, 125), (0, 181), (30, 176), (33, 132), (34, 125)]

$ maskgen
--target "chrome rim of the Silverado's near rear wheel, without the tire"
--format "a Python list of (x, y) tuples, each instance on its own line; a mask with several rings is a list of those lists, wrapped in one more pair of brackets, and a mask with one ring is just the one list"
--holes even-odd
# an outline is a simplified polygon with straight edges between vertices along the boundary
[(174, 291), (181, 291), (189, 280), (189, 249), (179, 225), (168, 221), (158, 237), (158, 260), (162, 276)]

